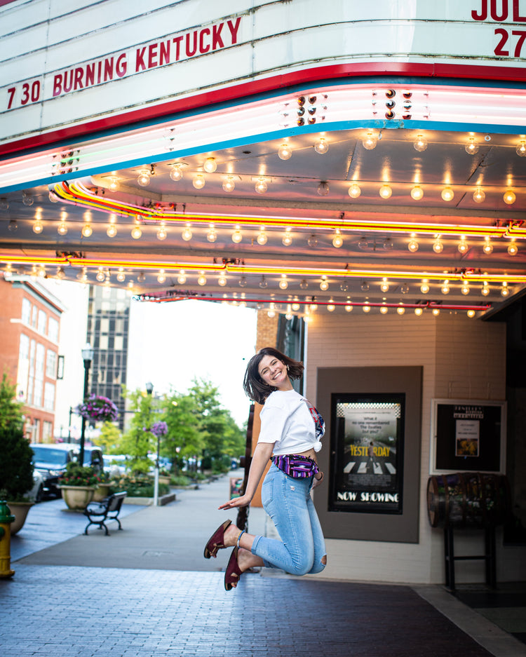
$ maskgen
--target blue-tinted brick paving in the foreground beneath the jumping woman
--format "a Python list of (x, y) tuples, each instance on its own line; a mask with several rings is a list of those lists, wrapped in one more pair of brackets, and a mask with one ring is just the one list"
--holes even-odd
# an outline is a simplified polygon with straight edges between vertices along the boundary
[(489, 657), (407, 586), (18, 564), (0, 581), (16, 657)]

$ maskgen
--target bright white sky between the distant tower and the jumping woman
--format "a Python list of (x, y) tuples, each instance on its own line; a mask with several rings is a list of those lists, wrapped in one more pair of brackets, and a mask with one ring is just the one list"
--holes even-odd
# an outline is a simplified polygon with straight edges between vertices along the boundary
[(255, 353), (257, 311), (194, 299), (130, 307), (128, 388), (184, 393), (194, 377), (220, 391), (222, 405), (239, 426), (248, 419), (243, 391), (248, 360)]

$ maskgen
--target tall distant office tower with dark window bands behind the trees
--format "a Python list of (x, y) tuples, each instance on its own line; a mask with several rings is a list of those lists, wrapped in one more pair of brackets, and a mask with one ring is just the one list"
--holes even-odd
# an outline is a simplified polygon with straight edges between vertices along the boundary
[(119, 428), (124, 426), (128, 361), (128, 329), (130, 298), (126, 290), (106, 286), (90, 286), (88, 332), (86, 339), (93, 346), (89, 391), (111, 399), (119, 409)]

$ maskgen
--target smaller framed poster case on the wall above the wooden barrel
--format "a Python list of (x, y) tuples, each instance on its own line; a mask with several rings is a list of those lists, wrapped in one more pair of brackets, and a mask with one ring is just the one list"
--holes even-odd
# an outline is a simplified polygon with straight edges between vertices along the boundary
[(432, 475), (505, 473), (506, 402), (433, 399), (431, 403)]

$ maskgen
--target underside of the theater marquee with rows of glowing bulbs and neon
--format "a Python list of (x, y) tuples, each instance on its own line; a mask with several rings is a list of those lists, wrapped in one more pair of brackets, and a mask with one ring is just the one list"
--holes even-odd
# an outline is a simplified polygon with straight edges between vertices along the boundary
[[(382, 112), (388, 92), (379, 94)], [(311, 106), (309, 95), (295, 97), (294, 121), (320, 118), (319, 103), (317, 114)], [(363, 306), (481, 316), (524, 289), (526, 135), (518, 130), (318, 121), (251, 142), (230, 139), (227, 127), (219, 140), (222, 124), (213, 123), (216, 135), (204, 147), (158, 155), (143, 144), (141, 156), (119, 163), (110, 155), (101, 165), (99, 153), (98, 165), (94, 156), (84, 167), (83, 146), (62, 147), (60, 175), (49, 185), (37, 177), (28, 187), (4, 184), (6, 276), (58, 276), (155, 301), (228, 299), (303, 316)]]

